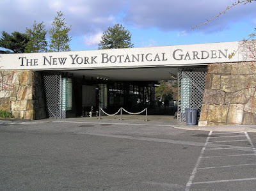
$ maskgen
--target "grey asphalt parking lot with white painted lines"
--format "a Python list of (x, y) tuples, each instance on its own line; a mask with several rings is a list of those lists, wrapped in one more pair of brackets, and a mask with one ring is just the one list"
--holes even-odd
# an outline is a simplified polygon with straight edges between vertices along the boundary
[(254, 190), (255, 140), (154, 120), (0, 121), (0, 190)]

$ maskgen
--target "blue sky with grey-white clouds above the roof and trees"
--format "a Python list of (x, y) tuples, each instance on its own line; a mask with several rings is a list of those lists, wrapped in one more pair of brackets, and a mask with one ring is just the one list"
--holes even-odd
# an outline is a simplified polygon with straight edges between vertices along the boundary
[[(97, 50), (102, 33), (122, 24), (134, 47), (232, 42), (255, 33), (256, 1), (239, 4), (205, 26), (233, 0), (0, 0), (0, 32), (24, 33), (33, 23), (49, 30), (57, 11), (71, 26), (70, 49)], [(49, 36), (47, 36), (49, 38)]]

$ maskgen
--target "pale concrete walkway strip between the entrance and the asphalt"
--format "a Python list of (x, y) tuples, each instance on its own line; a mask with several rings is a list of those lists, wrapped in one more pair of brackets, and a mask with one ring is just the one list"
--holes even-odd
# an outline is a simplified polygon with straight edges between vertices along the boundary
[(21, 119), (0, 119), (1, 124), (31, 124), (31, 123), (46, 123), (48, 121), (76, 121), (81, 123), (127, 123), (129, 125), (163, 125), (173, 128), (184, 130), (202, 130), (202, 131), (218, 131), (218, 132), (255, 132), (256, 125), (225, 125), (225, 126), (198, 126), (198, 125), (186, 125), (186, 123), (179, 123), (177, 119), (173, 119), (173, 116), (148, 116), (146, 121), (145, 115), (123, 115), (120, 120), (120, 115), (116, 116), (101, 116), (99, 117), (86, 117), (86, 118), (67, 118), (67, 119), (40, 119), (35, 121), (21, 120)]

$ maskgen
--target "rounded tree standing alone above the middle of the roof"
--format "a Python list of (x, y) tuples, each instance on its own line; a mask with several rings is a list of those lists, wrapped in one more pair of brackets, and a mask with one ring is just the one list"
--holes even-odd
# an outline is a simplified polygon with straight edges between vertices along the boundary
[(124, 49), (132, 48), (131, 33), (122, 24), (115, 24), (104, 31), (98, 49)]

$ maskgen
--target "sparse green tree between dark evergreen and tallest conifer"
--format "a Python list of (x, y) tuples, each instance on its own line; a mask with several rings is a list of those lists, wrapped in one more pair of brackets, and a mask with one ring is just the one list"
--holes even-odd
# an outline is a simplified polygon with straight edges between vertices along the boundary
[(26, 46), (26, 52), (47, 52), (47, 31), (44, 29), (44, 22), (33, 24), (33, 29), (26, 29), (26, 34), (30, 37), (30, 40)]

